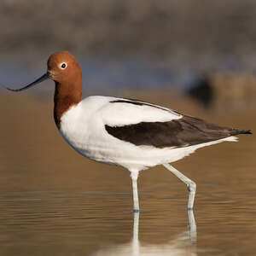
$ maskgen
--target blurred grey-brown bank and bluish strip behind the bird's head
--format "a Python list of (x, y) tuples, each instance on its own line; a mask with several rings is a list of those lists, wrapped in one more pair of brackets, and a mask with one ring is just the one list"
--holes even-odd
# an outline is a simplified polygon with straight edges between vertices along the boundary
[(30, 81), (66, 49), (93, 93), (175, 86), (205, 107), (256, 93), (253, 0), (3, 0), (0, 14), (2, 83)]

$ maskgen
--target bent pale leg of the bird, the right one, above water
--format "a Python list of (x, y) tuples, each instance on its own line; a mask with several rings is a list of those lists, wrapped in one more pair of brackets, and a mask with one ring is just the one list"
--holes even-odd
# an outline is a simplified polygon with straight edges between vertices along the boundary
[(189, 189), (189, 203), (188, 203), (188, 210), (193, 210), (194, 200), (195, 200), (195, 189), (196, 184), (194, 181), (189, 179), (189, 177), (184, 176), (181, 172), (178, 172), (177, 169), (172, 167), (169, 164), (164, 164), (163, 166), (166, 167), (169, 171), (171, 171), (175, 176), (177, 176), (183, 183), (188, 186)]

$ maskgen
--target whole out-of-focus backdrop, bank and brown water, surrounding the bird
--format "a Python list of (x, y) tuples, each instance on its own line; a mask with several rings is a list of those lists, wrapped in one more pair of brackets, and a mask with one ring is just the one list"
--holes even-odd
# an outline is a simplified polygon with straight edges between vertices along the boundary
[[(80, 61), (84, 96), (137, 98), (255, 131), (253, 0), (0, 1), (0, 84), (32, 82), (61, 50)], [(67, 146), (53, 94), (51, 81), (0, 88), (1, 254), (105, 255), (131, 240), (129, 172)], [(241, 136), (175, 163), (198, 188), (191, 255), (255, 252), (255, 154), (255, 137)], [(168, 245), (187, 230), (187, 190), (171, 173), (143, 172), (139, 195), (143, 245)]]

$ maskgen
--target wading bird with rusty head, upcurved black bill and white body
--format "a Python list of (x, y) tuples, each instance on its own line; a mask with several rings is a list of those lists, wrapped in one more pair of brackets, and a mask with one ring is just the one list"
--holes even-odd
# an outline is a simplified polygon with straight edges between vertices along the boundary
[(163, 165), (189, 190), (187, 209), (193, 210), (196, 183), (171, 164), (196, 149), (216, 143), (235, 142), (250, 130), (214, 125), (171, 108), (114, 96), (82, 99), (82, 69), (68, 51), (55, 52), (47, 72), (21, 91), (51, 79), (55, 82), (54, 119), (64, 140), (90, 160), (130, 171), (133, 212), (139, 212), (137, 177), (152, 166)]

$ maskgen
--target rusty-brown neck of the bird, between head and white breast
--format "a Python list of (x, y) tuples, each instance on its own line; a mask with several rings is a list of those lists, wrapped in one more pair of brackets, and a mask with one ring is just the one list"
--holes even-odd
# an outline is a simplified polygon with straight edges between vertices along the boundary
[(61, 116), (82, 100), (82, 79), (76, 82), (68, 84), (55, 81), (54, 118), (55, 125), (59, 130), (61, 128)]

